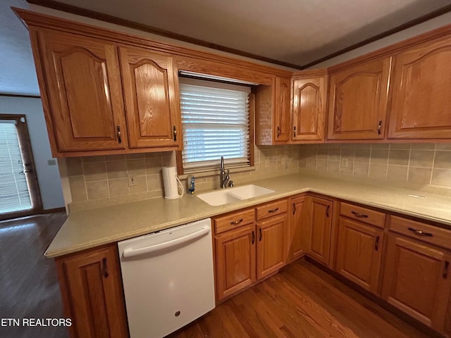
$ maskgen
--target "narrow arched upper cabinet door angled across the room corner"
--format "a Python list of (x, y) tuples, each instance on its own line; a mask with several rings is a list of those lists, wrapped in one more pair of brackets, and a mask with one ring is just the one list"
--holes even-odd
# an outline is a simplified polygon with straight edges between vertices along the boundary
[(293, 80), (292, 141), (323, 141), (326, 75)]

